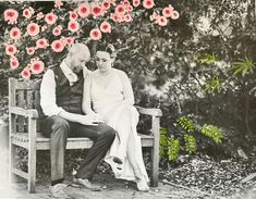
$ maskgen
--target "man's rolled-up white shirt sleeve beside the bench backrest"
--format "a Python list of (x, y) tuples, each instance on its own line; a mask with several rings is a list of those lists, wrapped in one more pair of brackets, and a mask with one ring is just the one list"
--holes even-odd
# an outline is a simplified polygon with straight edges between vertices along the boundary
[(42, 77), (40, 86), (40, 105), (47, 116), (58, 115), (62, 108), (56, 103), (56, 80), (52, 70), (48, 70)]

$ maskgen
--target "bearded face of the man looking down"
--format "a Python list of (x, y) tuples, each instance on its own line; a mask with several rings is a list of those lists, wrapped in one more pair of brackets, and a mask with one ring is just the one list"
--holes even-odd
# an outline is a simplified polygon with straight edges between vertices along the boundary
[(78, 74), (88, 61), (89, 55), (85, 52), (78, 52), (77, 54), (73, 54), (71, 61), (71, 70), (74, 73)]

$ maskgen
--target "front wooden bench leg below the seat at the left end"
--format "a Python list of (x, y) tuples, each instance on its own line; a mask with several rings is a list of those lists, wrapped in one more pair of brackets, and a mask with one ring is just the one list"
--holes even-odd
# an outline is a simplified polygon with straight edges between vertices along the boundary
[(36, 191), (36, 149), (28, 150), (28, 191)]

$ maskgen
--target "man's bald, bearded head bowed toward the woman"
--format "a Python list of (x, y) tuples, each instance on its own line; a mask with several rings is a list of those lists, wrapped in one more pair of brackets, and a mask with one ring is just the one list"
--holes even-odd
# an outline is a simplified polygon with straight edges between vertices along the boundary
[(90, 53), (88, 47), (84, 43), (74, 43), (69, 51), (66, 62), (69, 67), (77, 74), (89, 59)]

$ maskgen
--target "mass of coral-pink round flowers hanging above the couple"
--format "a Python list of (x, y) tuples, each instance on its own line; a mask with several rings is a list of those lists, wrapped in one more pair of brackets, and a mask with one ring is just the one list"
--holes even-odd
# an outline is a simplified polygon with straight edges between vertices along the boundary
[[(61, 10), (62, 7), (62, 1), (56, 0), (54, 9), (49, 13), (39, 12), (32, 7), (23, 7), (22, 11), (13, 8), (4, 11), (4, 21), (11, 26), (8, 28), (5, 54), (10, 58), (10, 67), (15, 70), (19, 69), (25, 53), (28, 61), (26, 59), (26, 66), (23, 65), (24, 78), (29, 78), (31, 74), (44, 72), (44, 59), (40, 60), (42, 51), (60, 53), (74, 43), (81, 34), (87, 34), (85, 37), (92, 40), (100, 40), (105, 34), (111, 34), (115, 23), (132, 22), (135, 17), (135, 9), (147, 11), (155, 9), (156, 5), (154, 0), (102, 0), (101, 2), (76, 2), (75, 8), (68, 7), (65, 10)], [(162, 16), (154, 13), (150, 21), (166, 26), (167, 18), (178, 17), (179, 13), (169, 5), (162, 10)], [(87, 24), (90, 29), (85, 27)], [(28, 40), (29, 42), (26, 42)], [(20, 52), (23, 52), (23, 55), (20, 55)], [(22, 61), (23, 64), (26, 62)]]

